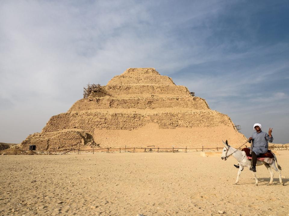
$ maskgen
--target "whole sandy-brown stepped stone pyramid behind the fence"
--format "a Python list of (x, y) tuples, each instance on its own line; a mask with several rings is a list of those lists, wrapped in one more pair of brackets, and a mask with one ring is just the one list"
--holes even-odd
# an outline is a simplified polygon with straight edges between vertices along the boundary
[(231, 119), (210, 110), (154, 68), (129, 68), (105, 86), (97, 85), (66, 112), (52, 116), (41, 133), (26, 138), (28, 149), (86, 147), (215, 148), (227, 139), (236, 146), (246, 141)]

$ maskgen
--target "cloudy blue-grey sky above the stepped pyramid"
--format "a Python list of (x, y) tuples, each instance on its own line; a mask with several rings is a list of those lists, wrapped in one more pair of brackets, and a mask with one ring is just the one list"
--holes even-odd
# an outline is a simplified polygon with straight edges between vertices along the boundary
[(250, 137), (289, 143), (288, 1), (1, 1), (0, 142), (129, 67), (154, 67)]

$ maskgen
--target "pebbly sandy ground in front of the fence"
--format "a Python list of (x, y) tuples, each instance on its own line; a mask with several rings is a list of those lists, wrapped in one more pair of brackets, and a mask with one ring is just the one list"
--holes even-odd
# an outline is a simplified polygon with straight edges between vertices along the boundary
[(233, 185), (235, 158), (200, 152), (0, 155), (0, 215), (289, 215), (278, 153), (284, 186), (265, 166), (259, 186), (247, 168)]

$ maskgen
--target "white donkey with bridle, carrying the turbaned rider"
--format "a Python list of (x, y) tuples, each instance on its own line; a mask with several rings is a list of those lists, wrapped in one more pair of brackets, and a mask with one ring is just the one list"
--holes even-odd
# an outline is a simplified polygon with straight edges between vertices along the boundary
[[(224, 143), (224, 142), (223, 142)], [(241, 171), (243, 170), (244, 167), (250, 167), (251, 166), (251, 161), (249, 161), (246, 157), (246, 153), (244, 151), (240, 151), (238, 149), (234, 149), (232, 146), (229, 146), (228, 145), (228, 141), (226, 140), (226, 143), (224, 143), (225, 147), (223, 149), (223, 152), (222, 152), (222, 160), (225, 159), (225, 161), (228, 159), (229, 156), (233, 156), (238, 162), (239, 162), (239, 171), (238, 171), (238, 174), (237, 174), (237, 179), (236, 179), (236, 182), (234, 184), (237, 184), (239, 182), (239, 178), (240, 178), (240, 175), (241, 175)], [(273, 183), (273, 176), (274, 176), (274, 173), (273, 171), (271, 170), (271, 168), (273, 168), (273, 170), (275, 170), (276, 172), (278, 172), (279, 174), (279, 181), (282, 185), (284, 185), (284, 183), (282, 182), (282, 178), (281, 178), (281, 167), (279, 166), (278, 162), (277, 162), (277, 158), (275, 156), (275, 154), (272, 152), (272, 154), (274, 155), (274, 159), (272, 160), (272, 163), (271, 164), (268, 164), (264, 161), (257, 161), (257, 164), (256, 166), (260, 166), (262, 164), (265, 165), (265, 167), (267, 167), (270, 175), (271, 175), (271, 179), (270, 179), (270, 182), (269, 184), (271, 185)], [(275, 161), (277, 163), (277, 166), (278, 166), (278, 169), (275, 165)], [(251, 171), (253, 173), (253, 176), (256, 180), (256, 183), (255, 185), (258, 186), (258, 179), (256, 177), (256, 173), (254, 173), (253, 171)]]

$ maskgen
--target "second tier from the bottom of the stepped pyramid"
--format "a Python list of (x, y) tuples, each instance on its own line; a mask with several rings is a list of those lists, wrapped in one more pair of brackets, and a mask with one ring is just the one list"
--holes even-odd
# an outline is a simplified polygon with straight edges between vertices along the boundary
[(148, 112), (111, 109), (61, 113), (52, 116), (42, 132), (77, 128), (92, 134), (94, 129), (132, 130), (148, 123), (156, 123), (160, 128), (233, 126), (228, 116), (211, 110)]

